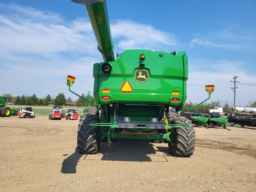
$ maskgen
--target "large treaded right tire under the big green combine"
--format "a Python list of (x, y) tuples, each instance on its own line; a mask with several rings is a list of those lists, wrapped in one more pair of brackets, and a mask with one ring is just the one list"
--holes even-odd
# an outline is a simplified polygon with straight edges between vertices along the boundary
[(174, 124), (188, 125), (191, 128), (173, 128), (175, 141), (168, 143), (169, 151), (174, 156), (189, 157), (195, 151), (196, 136), (192, 121), (189, 119), (174, 118)]

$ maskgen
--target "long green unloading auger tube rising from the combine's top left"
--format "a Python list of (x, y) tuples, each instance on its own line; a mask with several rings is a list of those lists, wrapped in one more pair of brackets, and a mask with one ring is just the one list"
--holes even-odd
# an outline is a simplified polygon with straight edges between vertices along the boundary
[(114, 61), (114, 44), (110, 32), (106, 0), (72, 1), (74, 3), (84, 4), (98, 42), (98, 50), (104, 61)]

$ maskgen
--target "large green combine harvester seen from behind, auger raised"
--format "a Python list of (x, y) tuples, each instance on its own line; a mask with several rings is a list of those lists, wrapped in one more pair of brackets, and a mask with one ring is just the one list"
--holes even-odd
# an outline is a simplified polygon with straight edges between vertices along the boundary
[[(126, 138), (164, 140), (172, 155), (191, 156), (195, 130), (191, 120), (178, 117), (187, 99), (186, 52), (132, 49), (115, 59), (106, 0), (72, 1), (85, 5), (104, 60), (93, 65), (95, 104), (83, 98), (90, 107), (80, 116), (78, 151), (95, 154), (101, 140)], [(75, 79), (68, 75), (69, 91), (82, 98), (70, 89)], [(208, 100), (214, 85), (205, 88)]]

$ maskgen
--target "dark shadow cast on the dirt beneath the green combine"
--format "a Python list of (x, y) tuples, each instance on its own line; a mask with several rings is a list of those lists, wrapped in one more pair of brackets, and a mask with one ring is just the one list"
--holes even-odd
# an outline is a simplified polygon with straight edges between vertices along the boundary
[(82, 154), (76, 149), (71, 156), (68, 156), (63, 161), (61, 172), (76, 173), (76, 166), (80, 160), (167, 162), (166, 157), (170, 156), (168, 153), (168, 144), (162, 143), (160, 145), (163, 146), (154, 148), (154, 144), (150, 143), (150, 141), (113, 139), (109, 146), (107, 142), (100, 142), (100, 150), (94, 155)]

